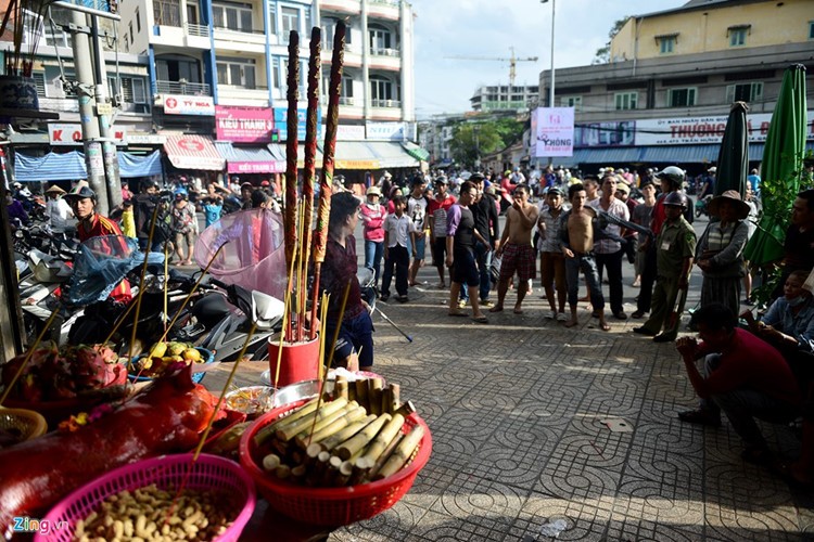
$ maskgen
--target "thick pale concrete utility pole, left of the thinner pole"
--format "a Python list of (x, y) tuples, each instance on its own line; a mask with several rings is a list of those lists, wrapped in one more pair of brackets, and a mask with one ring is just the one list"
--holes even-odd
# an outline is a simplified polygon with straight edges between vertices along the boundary
[(104, 155), (100, 141), (99, 120), (96, 117), (93, 55), (90, 47), (90, 29), (87, 15), (79, 11), (71, 12), (68, 25), (74, 42), (74, 65), (76, 69), (76, 94), (79, 100), (79, 120), (82, 127), (85, 162), (88, 167), (88, 184), (97, 193), (97, 211), (110, 214), (107, 186), (104, 177)]

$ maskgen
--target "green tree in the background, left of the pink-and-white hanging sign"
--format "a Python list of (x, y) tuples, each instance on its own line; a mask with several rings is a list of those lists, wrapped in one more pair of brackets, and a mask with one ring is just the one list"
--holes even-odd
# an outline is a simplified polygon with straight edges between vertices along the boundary
[(523, 136), (523, 122), (499, 118), (482, 122), (461, 122), (453, 130), (449, 144), (458, 164), (472, 167), (480, 156), (506, 149)]

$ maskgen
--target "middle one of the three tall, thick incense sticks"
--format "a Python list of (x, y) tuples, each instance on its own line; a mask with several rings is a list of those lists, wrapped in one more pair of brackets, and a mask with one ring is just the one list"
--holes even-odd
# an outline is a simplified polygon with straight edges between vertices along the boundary
[[(320, 50), (321, 50), (322, 33), (318, 26), (315, 26), (310, 30), (310, 56), (308, 57), (308, 108), (305, 117), (305, 170), (303, 171), (303, 206), (305, 211), (304, 217), (304, 229), (303, 229), (303, 242), (302, 246), (304, 250), (305, 271), (300, 274), (297, 288), (303, 292), (303, 299), (305, 299), (305, 288), (307, 284), (308, 273), (308, 258), (310, 256), (310, 237), (311, 237), (311, 220), (314, 215), (314, 179), (316, 177), (317, 168), (317, 109), (319, 108), (319, 65), (321, 63)], [(297, 328), (297, 340), (303, 340), (304, 336), (304, 323), (305, 323), (305, 308), (306, 304), (303, 302), (300, 307), (300, 315), (297, 321), (300, 326)], [(313, 326), (311, 326), (313, 327)], [(314, 338), (314, 337), (310, 337)]]

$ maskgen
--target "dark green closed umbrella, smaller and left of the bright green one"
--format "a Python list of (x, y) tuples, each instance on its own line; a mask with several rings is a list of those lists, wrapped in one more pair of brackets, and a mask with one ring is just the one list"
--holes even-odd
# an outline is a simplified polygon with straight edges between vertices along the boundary
[(727, 190), (736, 191), (741, 199), (746, 194), (746, 177), (749, 171), (749, 128), (746, 120), (748, 109), (749, 106), (743, 102), (735, 102), (729, 109), (724, 139), (717, 154), (716, 196)]

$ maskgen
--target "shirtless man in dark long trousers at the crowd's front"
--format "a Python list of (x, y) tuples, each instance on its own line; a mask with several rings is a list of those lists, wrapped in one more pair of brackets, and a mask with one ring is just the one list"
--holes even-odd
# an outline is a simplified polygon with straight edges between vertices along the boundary
[(565, 322), (565, 327), (573, 327), (578, 323), (576, 302), (580, 269), (582, 269), (590, 292), (590, 305), (599, 313), (599, 326), (607, 332), (610, 326), (605, 321), (605, 297), (602, 297), (599, 273), (594, 259), (594, 234), (598, 231), (597, 212), (586, 205), (587, 194), (582, 184), (569, 186), (568, 196), (571, 201), (571, 210), (560, 218), (560, 238), (562, 254), (565, 256), (568, 304), (571, 307), (571, 320)]

